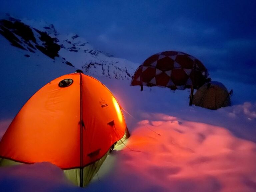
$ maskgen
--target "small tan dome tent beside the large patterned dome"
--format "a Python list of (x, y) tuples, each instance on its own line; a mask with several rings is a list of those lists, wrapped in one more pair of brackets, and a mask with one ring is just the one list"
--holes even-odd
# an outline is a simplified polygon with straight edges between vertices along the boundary
[(195, 106), (204, 107), (207, 109), (218, 109), (221, 107), (231, 106), (230, 95), (227, 88), (218, 81), (205, 83), (200, 87), (193, 97)]

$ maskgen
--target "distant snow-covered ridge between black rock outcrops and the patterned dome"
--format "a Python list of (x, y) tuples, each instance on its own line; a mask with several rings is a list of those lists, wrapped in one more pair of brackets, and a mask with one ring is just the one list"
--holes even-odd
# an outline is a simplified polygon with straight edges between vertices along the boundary
[(135, 67), (138, 66), (125, 59), (108, 56), (93, 49), (85, 39), (76, 34), (56, 37), (62, 47), (59, 54), (86, 74), (103, 75), (112, 79), (130, 79)]

